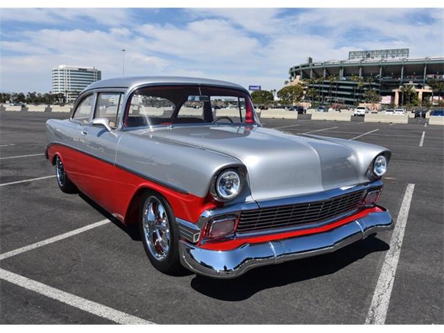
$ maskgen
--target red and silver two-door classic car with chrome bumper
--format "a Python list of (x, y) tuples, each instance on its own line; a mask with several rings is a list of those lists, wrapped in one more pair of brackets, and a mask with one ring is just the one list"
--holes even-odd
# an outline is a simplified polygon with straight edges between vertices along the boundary
[(139, 223), (164, 273), (235, 278), (393, 228), (377, 204), (388, 149), (264, 128), (233, 83), (100, 80), (46, 134), (60, 189)]

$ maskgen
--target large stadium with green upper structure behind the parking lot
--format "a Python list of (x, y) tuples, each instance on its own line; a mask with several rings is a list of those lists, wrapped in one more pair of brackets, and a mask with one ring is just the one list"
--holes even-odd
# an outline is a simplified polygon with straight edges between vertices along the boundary
[(444, 57), (409, 58), (409, 49), (350, 51), (348, 60), (313, 62), (308, 58), (291, 67), (289, 76), (291, 85), (303, 81), (306, 93), (316, 89), (316, 97), (306, 94), (307, 101), (356, 105), (365, 101), (366, 90), (374, 89), (380, 103), (403, 105), (404, 87), (409, 87), (421, 104), (437, 104), (444, 92)]

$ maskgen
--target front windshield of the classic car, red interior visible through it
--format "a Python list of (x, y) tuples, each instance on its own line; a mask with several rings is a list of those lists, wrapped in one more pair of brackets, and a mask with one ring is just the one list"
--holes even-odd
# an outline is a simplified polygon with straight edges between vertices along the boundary
[(123, 124), (140, 127), (215, 121), (259, 124), (246, 92), (192, 85), (137, 89), (130, 98)]

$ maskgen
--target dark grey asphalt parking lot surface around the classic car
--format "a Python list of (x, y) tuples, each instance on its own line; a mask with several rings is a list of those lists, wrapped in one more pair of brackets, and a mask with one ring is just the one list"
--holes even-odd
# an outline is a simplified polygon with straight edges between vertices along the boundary
[[(443, 126), (425, 126), (425, 119), (394, 125), (361, 117), (263, 119), (264, 126), (289, 133), (391, 149), (379, 203), (395, 221), (405, 219), (405, 228), (400, 248), (392, 249), (399, 257), (387, 287), (380, 281), (393, 232), (329, 255), (257, 268), (237, 280), (156, 271), (137, 228), (124, 227), (81, 194), (63, 194), (56, 178), (45, 178), (55, 171), (43, 155), (44, 123), (67, 116), (0, 113), (0, 323), (362, 324), (381, 286), (388, 295), (385, 323), (444, 323)], [(406, 206), (407, 189), (413, 195)], [(59, 238), (46, 241), (51, 237)]]

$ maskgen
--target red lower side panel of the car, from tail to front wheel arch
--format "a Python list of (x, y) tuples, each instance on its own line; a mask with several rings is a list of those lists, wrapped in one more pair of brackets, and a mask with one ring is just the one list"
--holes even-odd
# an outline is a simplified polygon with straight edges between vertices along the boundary
[(176, 217), (196, 222), (205, 210), (216, 207), (209, 197), (182, 194), (104, 162), (74, 148), (60, 144), (49, 146), (48, 159), (62, 159), (69, 179), (96, 203), (125, 224), (137, 222), (139, 211), (130, 205), (139, 189), (153, 189), (166, 198)]

